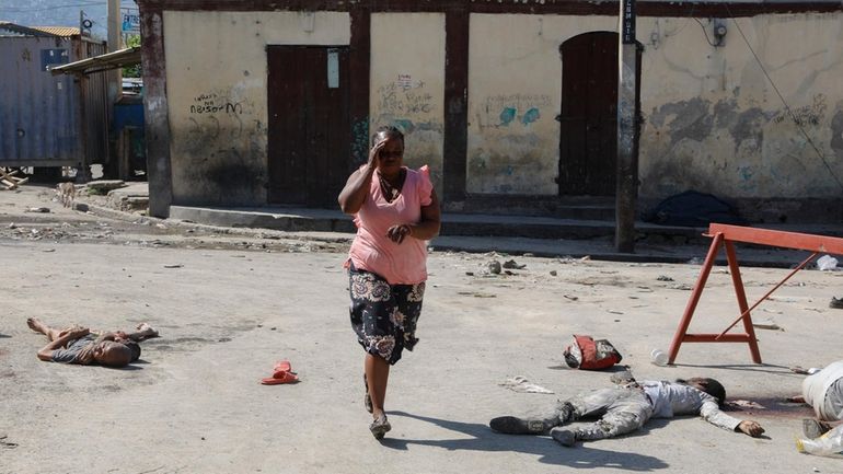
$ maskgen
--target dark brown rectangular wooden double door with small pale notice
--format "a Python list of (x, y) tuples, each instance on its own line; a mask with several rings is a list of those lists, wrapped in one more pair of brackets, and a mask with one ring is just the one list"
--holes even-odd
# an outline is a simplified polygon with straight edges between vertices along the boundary
[(268, 201), (336, 207), (350, 160), (348, 47), (268, 46)]

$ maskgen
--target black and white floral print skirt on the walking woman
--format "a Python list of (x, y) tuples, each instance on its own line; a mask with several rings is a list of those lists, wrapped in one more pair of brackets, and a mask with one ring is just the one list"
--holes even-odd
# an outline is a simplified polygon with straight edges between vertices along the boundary
[(371, 271), (348, 269), (351, 296), (351, 327), (367, 352), (390, 365), (401, 359), (406, 348), (413, 350), (418, 338), (416, 323), (422, 314), (424, 281), (416, 285), (390, 285)]

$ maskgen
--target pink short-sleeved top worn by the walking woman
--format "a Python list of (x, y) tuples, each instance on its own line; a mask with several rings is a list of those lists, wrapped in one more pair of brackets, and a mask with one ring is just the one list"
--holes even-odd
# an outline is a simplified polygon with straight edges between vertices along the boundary
[(386, 236), (392, 226), (418, 222), (422, 207), (432, 200), (434, 184), (427, 165), (418, 171), (404, 169), (404, 186), (392, 203), (381, 194), (378, 176), (372, 176), (369, 195), (355, 215), (357, 236), (348, 252), (355, 268), (378, 274), (390, 285), (415, 285), (427, 279), (427, 242), (407, 235), (397, 244)]

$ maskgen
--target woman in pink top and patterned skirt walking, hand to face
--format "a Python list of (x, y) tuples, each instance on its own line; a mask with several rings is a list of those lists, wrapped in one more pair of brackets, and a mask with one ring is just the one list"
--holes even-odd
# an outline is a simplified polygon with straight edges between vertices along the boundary
[(378, 129), (368, 163), (348, 177), (337, 199), (357, 226), (346, 267), (351, 326), (366, 350), (365, 402), (373, 418), (369, 430), (377, 439), (391, 429), (383, 408), (390, 367), (418, 342), (426, 241), (440, 226), (428, 167), (409, 170), (403, 158), (404, 135), (395, 127)]

